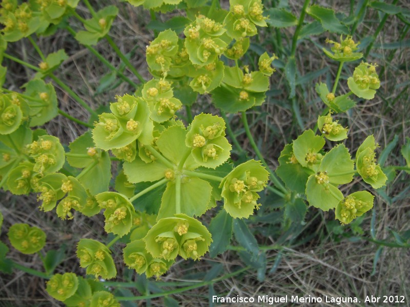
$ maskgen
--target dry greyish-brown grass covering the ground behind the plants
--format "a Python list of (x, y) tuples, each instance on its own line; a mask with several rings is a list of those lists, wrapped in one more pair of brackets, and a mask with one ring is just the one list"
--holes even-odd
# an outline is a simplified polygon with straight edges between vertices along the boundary
[[(299, 14), (301, 4), (298, 1), (291, 1), (291, 8)], [(323, 5), (328, 2), (321, 3)], [(348, 12), (344, 7), (345, 2), (331, 2), (332, 7), (338, 11)], [(399, 1), (402, 6), (407, 6), (405, 1)], [(99, 4), (103, 6), (103, 4)], [(138, 69), (142, 76), (149, 79), (150, 75), (147, 70), (144, 50), (147, 43), (152, 40), (153, 33), (146, 29), (145, 25), (149, 21), (149, 16), (141, 9), (134, 9), (129, 5), (121, 5), (120, 15), (114, 23), (111, 36), (117, 42), (119, 48), (124, 53), (130, 52), (135, 48), (135, 53), (131, 58), (132, 63)], [(359, 26), (357, 33), (360, 35), (372, 34), (377, 23), (377, 13), (370, 11), (366, 14), (364, 23)], [(75, 25), (74, 25), (75, 26)], [(408, 39), (408, 34), (402, 36), (402, 22), (395, 16), (387, 19), (386, 25), (377, 37), (376, 43), (394, 42), (399, 39)], [(408, 30), (408, 29), (407, 29)], [(284, 29), (282, 33), (291, 37), (294, 28)], [(264, 33), (264, 34), (263, 34)], [(267, 39), (270, 32), (262, 32), (261, 39)], [(335, 37), (332, 35), (332, 37)], [(323, 67), (330, 67), (332, 76), (336, 74), (337, 65), (325, 58), (315, 42), (323, 43), (324, 37), (312, 37), (311, 40), (304, 40), (298, 47), (297, 62), (301, 74), (315, 71)], [(286, 41), (283, 39), (285, 44)], [(93, 108), (99, 105), (108, 105), (114, 99), (114, 96), (122, 93), (132, 93), (133, 89), (127, 83), (122, 83), (115, 90), (104, 94), (95, 94), (96, 87), (99, 84), (101, 76), (108, 70), (101, 65), (98, 60), (92, 56), (87, 49), (78, 46), (76, 41), (64, 31), (58, 31), (56, 35), (41, 38), (39, 45), (47, 54), (60, 48), (64, 48), (70, 55), (65, 61), (62, 68), (57, 72), (60, 78), (64, 79), (75, 92), (87, 101)], [(15, 46), (15, 48), (14, 48)], [(271, 50), (271, 46), (266, 46)], [(119, 59), (115, 56), (105, 41), (98, 43), (96, 49), (103, 54), (115, 67), (120, 64)], [(271, 50), (273, 51), (273, 50)], [(23, 40), (13, 44), (8, 52), (16, 53), (28, 62), (36, 63), (39, 59), (35, 56), (28, 41)], [(409, 86), (404, 84), (409, 79), (408, 59), (410, 51), (408, 48), (399, 50), (374, 49), (368, 57), (368, 61), (377, 62), (379, 68), (384, 70), (380, 76), (382, 86), (380, 96), (372, 101), (360, 102), (353, 112), (348, 112), (342, 116), (342, 122), (350, 127), (349, 139), (346, 146), (351, 152), (355, 152), (361, 141), (369, 134), (374, 134), (376, 141), (384, 148), (392, 141), (394, 135), (398, 135), (399, 143), (389, 155), (386, 165), (403, 164), (400, 156), (400, 147), (403, 140), (409, 133), (410, 124), (410, 107), (408, 104)], [(347, 65), (348, 69), (353, 70), (352, 65)], [(18, 64), (10, 64), (5, 87), (17, 89), (30, 77), (31, 72), (22, 68)], [(129, 72), (133, 81), (137, 79)], [(321, 77), (325, 81), (325, 76)], [(315, 124), (317, 114), (323, 108), (321, 102), (317, 99), (314, 91), (314, 83), (318, 80), (312, 80), (311, 83), (304, 87), (297, 88), (298, 104), (301, 110), (304, 128), (312, 128)], [(274, 89), (282, 90), (278, 96), (272, 97), (268, 103), (261, 109), (255, 111), (255, 117), (261, 115), (252, 130), (254, 135), (261, 144), (267, 160), (277, 166), (277, 157), (286, 143), (295, 139), (301, 132), (294, 119), (292, 108), (287, 99), (286, 80), (284, 75), (278, 71), (272, 78)], [(345, 80), (340, 81), (339, 89), (348, 92)], [(58, 89), (58, 87), (57, 87)], [(71, 100), (66, 93), (58, 91), (59, 105), (63, 111), (72, 116), (87, 121), (87, 112)], [(383, 99), (382, 99), (382, 98)], [(207, 97), (201, 99), (193, 108), (194, 113), (201, 111), (214, 111), (209, 106)], [(232, 117), (231, 124), (241, 129), (240, 119), (238, 116)], [(47, 131), (60, 138), (61, 142), (68, 144), (76, 137), (81, 135), (85, 128), (77, 125), (64, 117), (58, 116), (50, 123), (45, 125)], [(238, 137), (239, 142), (244, 148), (249, 147), (248, 141), (244, 135)], [(409, 176), (398, 172), (398, 176), (387, 187), (386, 193), (391, 198), (399, 195), (402, 191), (407, 191), (402, 198), (393, 203), (386, 202), (382, 196), (378, 195), (375, 201), (375, 223), (374, 231), (378, 240), (393, 241), (391, 229), (397, 232), (409, 228), (410, 221), (410, 203), (408, 201), (408, 181)], [(357, 185), (357, 184), (356, 184)], [(362, 184), (363, 185), (363, 184)], [(364, 185), (363, 185), (364, 186)], [(365, 186), (366, 188), (367, 185)], [(353, 184), (346, 187), (344, 192), (353, 188)], [(104, 237), (103, 217), (101, 215), (88, 218), (76, 216), (73, 221), (60, 221), (52, 212), (44, 213), (37, 210), (35, 196), (12, 196), (9, 193), (1, 192), (0, 210), (3, 212), (5, 222), (3, 233), (1, 234), (2, 242), (9, 247), (10, 244), (5, 233), (6, 229), (14, 223), (28, 223), (36, 225), (45, 230), (47, 233), (47, 250), (57, 249), (61, 245), (67, 246), (67, 258), (63, 264), (57, 267), (57, 273), (67, 271), (76, 272), (84, 275), (84, 270), (78, 267), (75, 257), (75, 244), (79, 238), (98, 238)], [(269, 204), (264, 204), (268, 206)], [(310, 209), (307, 221), (310, 221), (306, 232), (316, 234), (313, 238), (306, 240), (298, 246), (284, 246), (280, 251), (282, 260), (279, 262), (276, 271), (267, 274), (264, 281), (258, 281), (255, 270), (249, 270), (232, 278), (223, 279), (213, 285), (214, 295), (218, 296), (285, 296), (292, 295), (314, 296), (314, 297), (357, 297), (362, 303), (344, 304), (346, 306), (364, 305), (364, 298), (367, 295), (382, 297), (383, 295), (403, 295), (405, 303), (400, 306), (410, 305), (410, 251), (404, 248), (384, 247), (381, 251), (380, 258), (373, 272), (373, 261), (378, 250), (378, 246), (373, 243), (360, 240), (355, 242), (349, 238), (354, 236), (352, 231), (346, 227), (343, 234), (332, 232), (330, 225), (333, 225), (334, 216), (332, 213), (317, 215), (316, 209)], [(309, 220), (311, 218), (311, 220)], [(372, 212), (366, 214), (361, 227), (364, 236), (370, 237)], [(263, 224), (256, 225), (255, 228), (263, 228)], [(268, 227), (268, 226), (266, 226)], [(261, 239), (261, 244), (273, 245), (277, 237), (273, 235), (262, 235), (257, 233)], [(306, 237), (306, 233), (300, 235)], [(267, 242), (268, 240), (268, 242)], [(118, 276), (122, 276), (124, 266), (121, 260), (120, 247), (116, 247), (115, 261), (119, 271)], [(275, 259), (278, 256), (278, 250), (268, 250), (267, 271), (275, 265)], [(24, 266), (42, 270), (41, 261), (38, 255), (22, 255), (14, 249), (10, 249), (8, 257), (12, 258)], [(204, 257), (199, 263), (179, 261), (175, 264), (169, 273), (162, 278), (162, 281), (185, 281), (196, 279), (199, 282), (204, 272), (208, 272), (215, 267), (215, 264), (221, 264), (221, 273), (234, 272), (244, 266), (234, 251), (229, 251), (220, 255), (216, 259)], [(128, 274), (128, 272), (125, 272)], [(195, 275), (197, 274), (197, 275)], [(202, 274), (202, 275), (201, 275)], [(135, 277), (138, 280), (138, 277)], [(121, 278), (117, 279), (121, 281)], [(170, 288), (172, 289), (172, 287)], [(134, 295), (141, 295), (136, 289), (131, 289)], [(172, 296), (181, 305), (186, 306), (208, 306), (210, 290), (208, 287), (202, 287)], [(163, 305), (163, 299), (157, 298), (151, 300), (152, 305)], [(51, 299), (45, 291), (44, 280), (35, 276), (25, 274), (21, 271), (14, 270), (12, 275), (0, 273), (0, 306), (59, 306), (60, 303)], [(135, 303), (135, 305), (145, 305), (145, 301)], [(227, 304), (229, 305), (229, 304)], [(245, 306), (246, 304), (243, 304)], [(259, 305), (259, 304), (249, 304)], [(290, 304), (288, 304), (290, 305)], [(302, 306), (311, 304), (305, 303)], [(335, 304), (325, 304), (334, 306)], [(372, 304), (369, 304), (372, 305)], [(376, 304), (375, 304), (376, 305)]]

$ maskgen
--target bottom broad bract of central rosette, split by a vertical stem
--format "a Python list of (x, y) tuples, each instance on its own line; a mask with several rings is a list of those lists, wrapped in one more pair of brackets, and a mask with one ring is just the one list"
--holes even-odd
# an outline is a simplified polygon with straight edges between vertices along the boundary
[[(183, 177), (181, 180), (180, 193), (181, 212), (184, 212), (189, 216), (200, 216), (208, 210), (208, 204), (212, 194), (212, 186), (209, 182), (196, 177)], [(176, 213), (175, 198), (175, 181), (170, 181), (162, 195), (161, 207), (159, 208), (157, 220), (174, 216)]]

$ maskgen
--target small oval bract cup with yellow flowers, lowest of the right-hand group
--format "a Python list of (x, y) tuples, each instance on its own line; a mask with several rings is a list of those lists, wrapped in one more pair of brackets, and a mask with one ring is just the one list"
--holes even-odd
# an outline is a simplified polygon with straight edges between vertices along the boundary
[(357, 216), (373, 208), (374, 196), (367, 191), (354, 192), (339, 202), (336, 207), (336, 220), (341, 224), (352, 222)]

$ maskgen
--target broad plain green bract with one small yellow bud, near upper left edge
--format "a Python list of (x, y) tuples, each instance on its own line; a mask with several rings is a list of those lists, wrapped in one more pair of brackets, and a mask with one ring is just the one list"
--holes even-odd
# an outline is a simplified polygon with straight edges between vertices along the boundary
[(24, 95), (30, 108), (30, 127), (43, 125), (58, 114), (57, 95), (54, 86), (43, 80), (31, 80), (25, 84)]

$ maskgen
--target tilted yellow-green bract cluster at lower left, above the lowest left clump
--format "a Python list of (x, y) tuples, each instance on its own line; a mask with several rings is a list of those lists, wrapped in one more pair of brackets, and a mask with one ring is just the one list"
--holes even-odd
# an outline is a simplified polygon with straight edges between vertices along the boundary
[(111, 251), (102, 243), (93, 239), (80, 239), (77, 245), (77, 257), (80, 267), (87, 268), (87, 274), (114, 278), (117, 270), (111, 257)]

